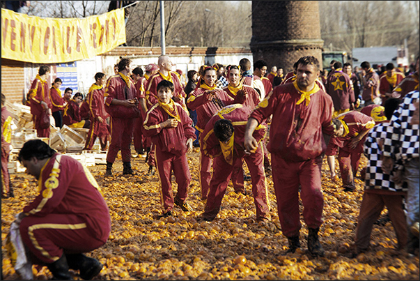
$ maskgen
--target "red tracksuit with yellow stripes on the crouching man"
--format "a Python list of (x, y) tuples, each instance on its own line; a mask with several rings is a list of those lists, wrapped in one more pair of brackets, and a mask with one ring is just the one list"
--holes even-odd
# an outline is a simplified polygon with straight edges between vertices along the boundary
[(56, 153), (42, 168), (39, 195), (25, 206), (22, 241), (40, 261), (90, 252), (107, 242), (111, 218), (100, 187), (78, 160)]

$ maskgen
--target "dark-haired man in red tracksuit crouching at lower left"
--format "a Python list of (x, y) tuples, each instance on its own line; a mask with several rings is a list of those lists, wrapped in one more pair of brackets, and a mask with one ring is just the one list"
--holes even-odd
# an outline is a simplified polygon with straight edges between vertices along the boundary
[(109, 209), (95, 178), (79, 161), (40, 139), (26, 142), (18, 159), (40, 189), (17, 215), (31, 261), (46, 265), (54, 280), (72, 280), (69, 268), (91, 280), (102, 264), (82, 253), (104, 245), (111, 231)]

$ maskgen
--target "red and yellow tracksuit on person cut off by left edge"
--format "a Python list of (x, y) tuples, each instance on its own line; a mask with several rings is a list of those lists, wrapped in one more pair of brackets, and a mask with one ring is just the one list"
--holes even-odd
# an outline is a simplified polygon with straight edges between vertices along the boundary
[(12, 143), (13, 122), (6, 106), (1, 107), (1, 197), (8, 197), (10, 191), (10, 176), (8, 162), (10, 156), (10, 144)]

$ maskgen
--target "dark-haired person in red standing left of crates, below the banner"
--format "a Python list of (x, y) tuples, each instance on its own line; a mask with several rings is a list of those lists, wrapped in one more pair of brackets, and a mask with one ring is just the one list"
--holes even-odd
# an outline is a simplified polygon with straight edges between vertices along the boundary
[(49, 126), (48, 128), (42, 128), (40, 119), (41, 114), (52, 115), (52, 103), (49, 100), (49, 86), (47, 82), (49, 71), (49, 66), (40, 66), (38, 75), (33, 79), (28, 93), (33, 126), (38, 137), (49, 137), (50, 132)]

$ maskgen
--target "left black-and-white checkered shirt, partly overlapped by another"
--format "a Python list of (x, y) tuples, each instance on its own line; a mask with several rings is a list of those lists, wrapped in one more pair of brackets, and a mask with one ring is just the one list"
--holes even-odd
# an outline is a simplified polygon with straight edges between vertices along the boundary
[(382, 172), (382, 161), (380, 160), (382, 151), (378, 145), (387, 137), (390, 137), (391, 134), (387, 132), (387, 127), (390, 124), (380, 123), (372, 128), (369, 132), (368, 137), (366, 137), (366, 142), (364, 142), (364, 154), (368, 158), (368, 165), (366, 167), (366, 179), (365, 179), (365, 189), (380, 189), (380, 190), (389, 190), (389, 191), (407, 191), (407, 183), (403, 185), (397, 185), (392, 181), (392, 176), (397, 169), (403, 168), (400, 164), (400, 159), (396, 159), (396, 164), (394, 165), (394, 170), (391, 175), (384, 174)]

